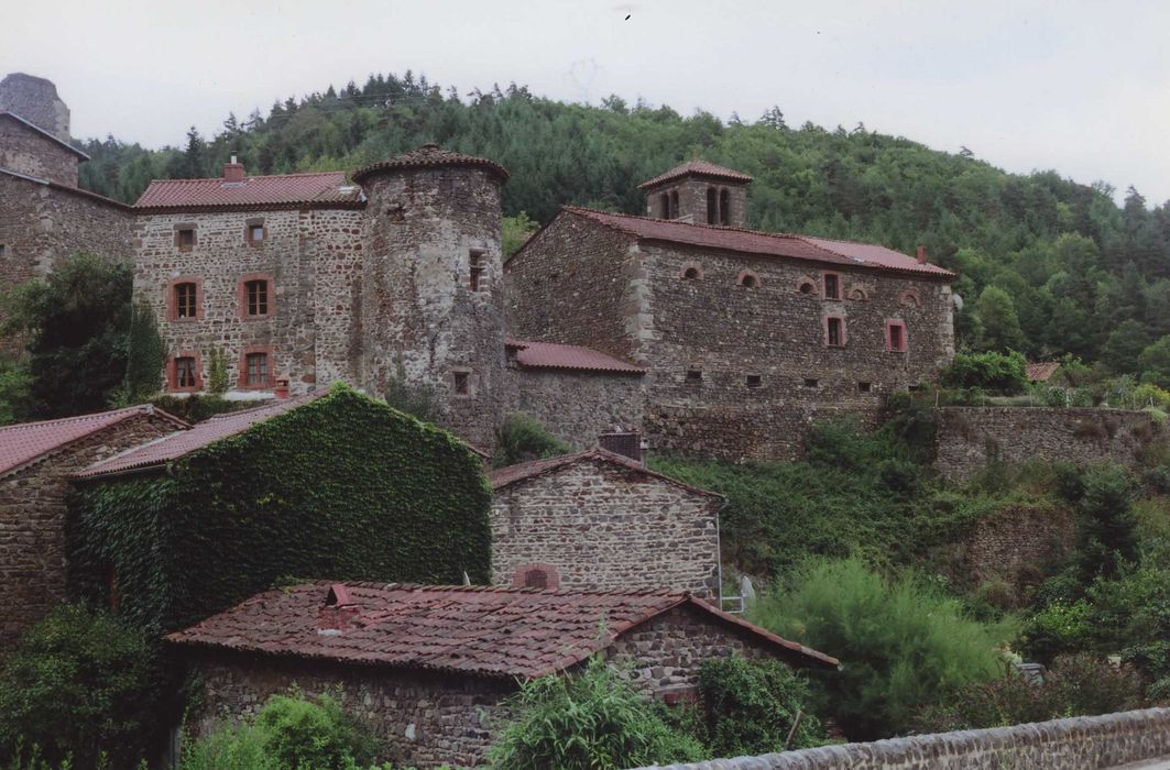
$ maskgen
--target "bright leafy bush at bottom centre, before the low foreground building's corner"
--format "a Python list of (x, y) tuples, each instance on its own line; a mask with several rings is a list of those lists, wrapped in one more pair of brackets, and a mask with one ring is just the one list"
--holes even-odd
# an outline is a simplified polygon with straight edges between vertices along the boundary
[(704, 758), (695, 738), (670, 728), (600, 658), (578, 674), (523, 682), (508, 706), (516, 716), (487, 755), (495, 770), (640, 768)]

